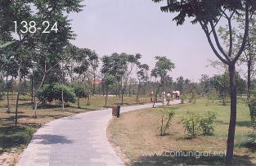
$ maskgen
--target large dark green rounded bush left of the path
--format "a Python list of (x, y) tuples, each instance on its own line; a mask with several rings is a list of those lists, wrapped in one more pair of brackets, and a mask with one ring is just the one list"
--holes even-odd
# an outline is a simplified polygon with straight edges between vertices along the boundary
[(59, 83), (46, 84), (42, 87), (42, 89), (38, 92), (37, 96), (39, 101), (42, 103), (56, 101), (62, 101), (62, 89), (63, 89), (63, 98), (65, 103), (67, 102), (75, 102), (75, 94), (74, 90), (65, 85), (61, 85)]

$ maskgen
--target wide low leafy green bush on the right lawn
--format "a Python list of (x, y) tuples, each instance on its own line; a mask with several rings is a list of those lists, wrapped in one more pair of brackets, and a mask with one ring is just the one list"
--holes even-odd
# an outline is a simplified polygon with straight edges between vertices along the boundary
[(207, 115), (199, 116), (193, 112), (187, 112), (188, 116), (182, 119), (183, 127), (189, 137), (196, 137), (198, 135), (209, 136), (214, 131), (214, 120), (216, 114), (209, 112)]

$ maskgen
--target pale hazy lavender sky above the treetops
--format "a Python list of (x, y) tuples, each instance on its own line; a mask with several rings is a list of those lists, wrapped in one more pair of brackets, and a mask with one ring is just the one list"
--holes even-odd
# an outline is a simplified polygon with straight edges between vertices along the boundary
[[(142, 62), (155, 65), (155, 56), (168, 56), (176, 69), (176, 79), (197, 81), (201, 74), (213, 75), (216, 70), (205, 67), (208, 59), (217, 60), (199, 25), (177, 26), (170, 13), (163, 13), (161, 4), (151, 0), (85, 0), (86, 7), (72, 14), (73, 43), (95, 50), (99, 56), (113, 52), (141, 53)], [(165, 3), (165, 2), (164, 2)], [(163, 4), (163, 3), (162, 3)]]

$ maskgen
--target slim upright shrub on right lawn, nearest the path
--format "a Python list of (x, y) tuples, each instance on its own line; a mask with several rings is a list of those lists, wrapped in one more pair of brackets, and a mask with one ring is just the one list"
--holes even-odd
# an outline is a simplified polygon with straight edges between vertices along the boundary
[(159, 127), (160, 136), (166, 135), (166, 131), (170, 127), (170, 123), (174, 115), (175, 115), (175, 111), (169, 107), (165, 107), (164, 109), (161, 110), (161, 125)]

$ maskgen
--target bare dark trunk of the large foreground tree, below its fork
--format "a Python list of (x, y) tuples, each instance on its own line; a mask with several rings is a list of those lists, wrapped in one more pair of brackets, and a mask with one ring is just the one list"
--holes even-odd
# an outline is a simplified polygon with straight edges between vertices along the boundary
[(226, 165), (232, 164), (234, 153), (234, 138), (236, 132), (236, 67), (229, 65), (230, 87), (231, 87), (231, 114), (227, 138), (227, 158)]

